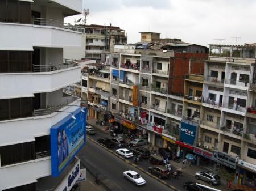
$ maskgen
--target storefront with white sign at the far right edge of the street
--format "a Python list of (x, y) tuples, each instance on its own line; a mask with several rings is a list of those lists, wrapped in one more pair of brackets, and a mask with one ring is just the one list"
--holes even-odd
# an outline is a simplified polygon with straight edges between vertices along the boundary
[(239, 172), (236, 176), (238, 184), (256, 187), (256, 165), (238, 160), (237, 166), (239, 167)]

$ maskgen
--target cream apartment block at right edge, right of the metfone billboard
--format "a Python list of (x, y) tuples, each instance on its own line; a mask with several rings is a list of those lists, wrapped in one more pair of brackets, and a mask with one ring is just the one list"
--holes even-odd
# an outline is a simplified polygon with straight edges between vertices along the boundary
[(255, 45), (210, 45), (204, 69), (196, 149), (210, 154), (199, 158), (255, 186)]

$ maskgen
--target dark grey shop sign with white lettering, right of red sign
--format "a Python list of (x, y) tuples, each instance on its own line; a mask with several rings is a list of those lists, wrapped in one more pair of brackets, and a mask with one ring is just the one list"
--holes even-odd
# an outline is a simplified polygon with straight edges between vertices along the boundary
[(213, 160), (226, 165), (227, 167), (236, 169), (236, 158), (231, 155), (226, 154), (225, 152), (213, 152)]

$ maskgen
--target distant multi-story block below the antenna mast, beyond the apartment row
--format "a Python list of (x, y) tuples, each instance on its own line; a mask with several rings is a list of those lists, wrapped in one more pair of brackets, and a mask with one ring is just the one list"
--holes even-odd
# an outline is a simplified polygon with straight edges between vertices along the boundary
[(113, 52), (114, 45), (127, 44), (127, 35), (120, 27), (90, 24), (83, 26), (86, 33), (86, 58), (109, 63), (102, 52)]

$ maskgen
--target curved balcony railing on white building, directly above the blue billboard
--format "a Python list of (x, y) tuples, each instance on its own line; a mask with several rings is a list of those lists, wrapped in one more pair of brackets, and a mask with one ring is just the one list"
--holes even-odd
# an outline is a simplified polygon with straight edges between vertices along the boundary
[(48, 107), (46, 109), (34, 109), (34, 116), (44, 116), (47, 114), (52, 114), (54, 111), (59, 111), (59, 109), (65, 107), (68, 104), (71, 104), (73, 101), (78, 100), (79, 97), (72, 97), (63, 101), (63, 103)]

